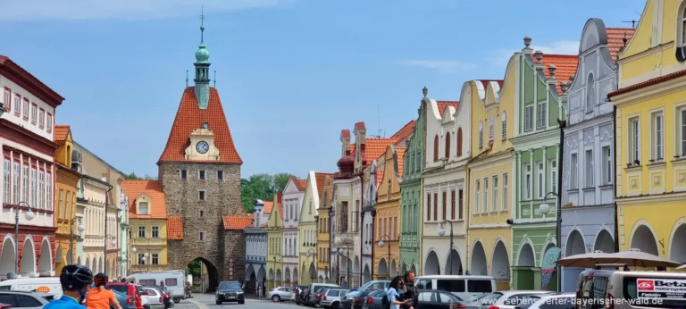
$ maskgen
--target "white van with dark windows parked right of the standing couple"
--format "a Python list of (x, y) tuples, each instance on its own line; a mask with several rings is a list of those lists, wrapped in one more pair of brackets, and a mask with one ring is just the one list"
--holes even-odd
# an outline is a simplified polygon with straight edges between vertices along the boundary
[(466, 300), (493, 293), (496, 290), (496, 280), (491, 276), (473, 275), (421, 276), (414, 279), (414, 288), (440, 289)]

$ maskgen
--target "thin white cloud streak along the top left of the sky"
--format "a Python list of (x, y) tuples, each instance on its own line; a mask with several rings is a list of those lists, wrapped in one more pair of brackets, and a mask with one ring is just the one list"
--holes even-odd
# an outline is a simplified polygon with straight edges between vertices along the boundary
[(5, 21), (160, 19), (289, 4), (294, 0), (20, 0), (2, 1)]

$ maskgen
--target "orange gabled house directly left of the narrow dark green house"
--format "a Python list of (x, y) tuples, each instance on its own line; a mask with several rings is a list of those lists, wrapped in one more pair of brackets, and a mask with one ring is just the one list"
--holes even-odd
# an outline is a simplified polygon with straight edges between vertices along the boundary
[[(400, 181), (403, 174), (405, 147), (387, 146), (382, 169), (378, 169), (379, 188), (374, 222), (374, 280), (389, 280), (397, 276), (400, 261)], [(380, 175), (381, 174), (381, 175)], [(389, 268), (390, 265), (390, 268)], [(366, 270), (365, 270), (366, 271)]]

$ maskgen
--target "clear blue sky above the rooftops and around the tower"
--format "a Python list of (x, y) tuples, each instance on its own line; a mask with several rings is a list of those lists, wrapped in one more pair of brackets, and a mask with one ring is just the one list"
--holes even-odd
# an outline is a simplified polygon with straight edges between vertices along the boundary
[(416, 118), (424, 86), (457, 100), (466, 80), (502, 79), (524, 36), (544, 53), (577, 54), (589, 18), (631, 27), (622, 21), (638, 20), (645, 1), (56, 3), (0, 0), (0, 54), (66, 97), (56, 123), (70, 124), (79, 144), (121, 171), (157, 174), (204, 4), (211, 71), (243, 177), (305, 177), (336, 170), (339, 132), (356, 121), (390, 136)]

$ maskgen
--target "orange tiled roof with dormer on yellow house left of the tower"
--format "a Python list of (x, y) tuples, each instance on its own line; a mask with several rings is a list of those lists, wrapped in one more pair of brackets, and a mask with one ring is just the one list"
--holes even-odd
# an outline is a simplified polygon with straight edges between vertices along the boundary
[[(164, 201), (161, 180), (124, 180), (121, 187), (129, 196), (129, 219), (167, 219), (167, 205)], [(142, 194), (150, 196), (150, 214), (136, 213), (136, 198)]]

